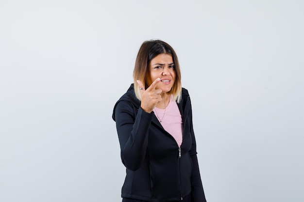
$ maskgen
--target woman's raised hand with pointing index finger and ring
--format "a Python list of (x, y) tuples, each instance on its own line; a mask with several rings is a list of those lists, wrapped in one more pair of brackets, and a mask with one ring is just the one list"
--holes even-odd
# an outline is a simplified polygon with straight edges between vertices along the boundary
[(156, 78), (156, 80), (147, 88), (144, 89), (144, 85), (140, 80), (137, 80), (136, 82), (139, 85), (139, 88), (143, 88), (140, 90), (141, 94), (141, 109), (144, 111), (151, 113), (152, 110), (155, 108), (156, 104), (162, 101), (162, 90), (161, 89), (155, 89), (157, 83), (160, 81), (160, 78)]

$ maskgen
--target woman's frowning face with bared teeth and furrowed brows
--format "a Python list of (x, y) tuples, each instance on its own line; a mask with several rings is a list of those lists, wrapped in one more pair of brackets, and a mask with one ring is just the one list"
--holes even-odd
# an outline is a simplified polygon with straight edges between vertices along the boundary
[(156, 89), (161, 89), (163, 93), (168, 93), (175, 81), (175, 66), (170, 54), (162, 53), (150, 61), (147, 84), (150, 86), (153, 81), (160, 78)]

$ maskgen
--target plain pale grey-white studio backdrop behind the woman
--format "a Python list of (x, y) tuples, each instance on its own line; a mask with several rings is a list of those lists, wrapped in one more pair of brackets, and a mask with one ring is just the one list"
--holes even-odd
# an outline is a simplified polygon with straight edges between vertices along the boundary
[(0, 202), (119, 202), (112, 110), (177, 52), (208, 202), (304, 202), (303, 0), (1, 0)]

